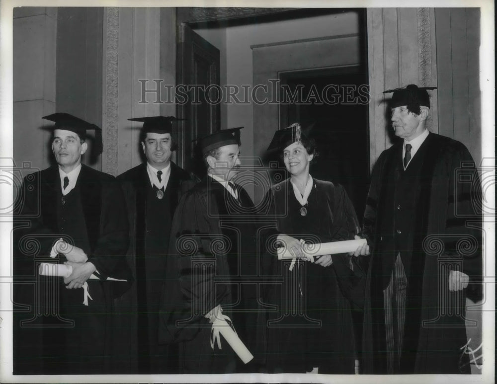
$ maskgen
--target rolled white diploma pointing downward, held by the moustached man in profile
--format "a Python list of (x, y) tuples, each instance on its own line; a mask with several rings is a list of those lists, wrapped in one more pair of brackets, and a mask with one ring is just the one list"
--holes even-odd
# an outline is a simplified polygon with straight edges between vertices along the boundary
[(247, 364), (253, 359), (253, 355), (247, 349), (244, 342), (240, 340), (240, 337), (238, 337), (231, 319), (221, 312), (222, 309), (220, 307), (217, 317), (214, 318), (214, 316), (211, 316), (209, 319), (212, 323), (211, 348), (214, 350), (215, 342), (217, 342), (218, 348), (221, 349), (221, 337), (219, 336), (221, 334), (244, 364)]

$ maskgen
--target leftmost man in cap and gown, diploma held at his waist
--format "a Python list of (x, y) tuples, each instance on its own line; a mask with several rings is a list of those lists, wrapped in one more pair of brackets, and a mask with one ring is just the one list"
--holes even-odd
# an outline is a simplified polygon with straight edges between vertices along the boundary
[(14, 287), (16, 304), (34, 310), (26, 318), (18, 307), (14, 317), (25, 320), (14, 326), (14, 372), (103, 374), (113, 299), (129, 288), (107, 279), (132, 280), (124, 258), (129, 242), (124, 196), (113, 176), (81, 164), (87, 130), (96, 131), (94, 149), (101, 153), (100, 128), (67, 113), (44, 119), (55, 122), (50, 130), (57, 164), (24, 178), (19, 220), (28, 225), (14, 232), (15, 274), (19, 281), (37, 276), (40, 261), (64, 262), (72, 273), (37, 277), (34, 297), (29, 285)]

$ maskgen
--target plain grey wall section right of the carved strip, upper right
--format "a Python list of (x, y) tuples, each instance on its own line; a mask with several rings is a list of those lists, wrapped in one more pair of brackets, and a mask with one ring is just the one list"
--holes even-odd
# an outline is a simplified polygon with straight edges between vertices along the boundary
[(482, 158), (480, 9), (435, 8), (439, 133)]

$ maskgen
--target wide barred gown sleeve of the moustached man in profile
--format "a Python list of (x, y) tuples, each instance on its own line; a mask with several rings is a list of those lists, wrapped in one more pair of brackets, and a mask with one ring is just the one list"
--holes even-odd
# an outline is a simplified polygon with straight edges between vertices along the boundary
[(176, 208), (161, 298), (161, 342), (193, 339), (202, 326), (210, 326), (204, 314), (229, 295), (227, 285), (214, 284), (216, 274), (228, 274), (228, 266), (216, 215), (208, 215), (210, 203), (207, 191), (197, 189), (184, 194)]

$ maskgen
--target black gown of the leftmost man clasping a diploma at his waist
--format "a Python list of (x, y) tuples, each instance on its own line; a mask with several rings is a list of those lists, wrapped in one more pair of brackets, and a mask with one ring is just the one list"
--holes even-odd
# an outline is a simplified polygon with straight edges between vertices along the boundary
[[(82, 210), (77, 219), (83, 227), (80, 233), (72, 235), (62, 229), (58, 217), (58, 200), (62, 193), (57, 165), (27, 175), (22, 188), (23, 206), (20, 215), (15, 217), (14, 275), (16, 281), (24, 284), (14, 285), (14, 300), (20, 306), (32, 307), (31, 312), (16, 308), (14, 372), (108, 373), (115, 343), (110, 332), (113, 300), (129, 289), (129, 284), (87, 280), (93, 300), (88, 299), (86, 307), (83, 306), (83, 289), (67, 290), (62, 278), (36, 276), (39, 261), (65, 261), (63, 256), (51, 259), (48, 255), (60, 237), (69, 235), (76, 246), (83, 248), (87, 261), (95, 265), (103, 279), (132, 281), (124, 258), (129, 237), (120, 185), (113, 176), (82, 165), (76, 187), (67, 195), (68, 200), (70, 196), (79, 196), (76, 207)], [(86, 238), (80, 243), (83, 232)], [(34, 285), (30, 283), (35, 281)], [(36, 296), (33, 288), (38, 292)], [(53, 296), (54, 293), (57, 296)], [(56, 307), (45, 308), (48, 303)], [(19, 326), (21, 320), (27, 322)], [(74, 320), (74, 326), (67, 327), (67, 320)], [(49, 325), (52, 327), (47, 328)]]

